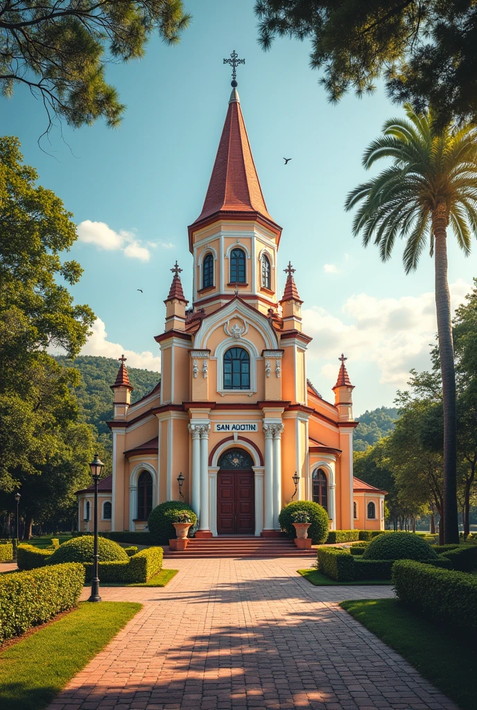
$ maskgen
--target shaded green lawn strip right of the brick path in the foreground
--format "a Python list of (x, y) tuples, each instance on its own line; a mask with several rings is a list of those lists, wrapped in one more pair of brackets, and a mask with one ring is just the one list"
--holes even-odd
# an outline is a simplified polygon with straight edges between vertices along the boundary
[(343, 601), (351, 616), (394, 648), (463, 710), (476, 709), (476, 645), (396, 599)]

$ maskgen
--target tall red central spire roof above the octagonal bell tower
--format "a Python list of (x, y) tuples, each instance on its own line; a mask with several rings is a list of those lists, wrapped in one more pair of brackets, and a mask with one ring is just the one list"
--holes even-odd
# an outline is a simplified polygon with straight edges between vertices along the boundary
[(200, 222), (210, 217), (249, 217), (260, 215), (271, 226), (280, 230), (273, 222), (263, 198), (260, 181), (253, 162), (250, 143), (243, 121), (238, 92), (232, 89), (229, 110), (215, 158), (204, 207), (195, 222), (189, 227), (194, 229)]

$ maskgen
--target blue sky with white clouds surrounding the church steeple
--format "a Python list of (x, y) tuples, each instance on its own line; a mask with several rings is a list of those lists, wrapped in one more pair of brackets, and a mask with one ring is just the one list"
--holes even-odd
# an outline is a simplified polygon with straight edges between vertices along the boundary
[[(259, 48), (253, 0), (185, 5), (194, 18), (180, 45), (168, 48), (154, 38), (140, 62), (108, 68), (127, 105), (118, 130), (102, 122), (77, 131), (63, 126), (63, 138), (56, 130), (50, 143), (43, 140), (46, 154), (37, 145), (46, 124), (40, 102), (21, 88), (13, 99), (1, 99), (1, 132), (20, 138), (41, 184), (62, 198), (77, 224), (102, 222), (111, 230), (99, 229), (116, 249), (84, 241), (72, 249), (84, 268), (75, 299), (89, 303), (99, 319), (84, 352), (125, 351), (128, 364), (158, 367), (153, 336), (163, 329), (176, 258), (190, 297), (187, 224), (207, 190), (230, 93), (222, 60), (235, 49), (246, 58), (238, 91), (258, 175), (268, 211), (283, 226), (280, 266), (290, 259), (296, 269), (304, 329), (314, 337), (308, 376), (331, 399), (343, 350), (356, 386), (355, 413), (392, 405), (407, 371), (429, 364), (433, 262), (424, 254), (418, 271), (406, 276), (398, 245), (383, 265), (374, 247), (365, 250), (353, 239), (343, 204), (366, 179), (364, 148), (399, 109), (382, 89), (330, 105), (309, 69), (307, 43), (278, 40), (269, 53)], [(292, 157), (286, 168), (284, 155)], [(449, 237), (456, 305), (477, 274), (476, 251), (464, 258)]]

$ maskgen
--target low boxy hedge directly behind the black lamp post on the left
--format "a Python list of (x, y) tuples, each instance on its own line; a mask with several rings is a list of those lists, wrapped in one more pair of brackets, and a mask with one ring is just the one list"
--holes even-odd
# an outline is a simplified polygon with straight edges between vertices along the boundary
[[(117, 562), (99, 562), (98, 575), (102, 582), (146, 582), (163, 567), (163, 548), (148, 547), (129, 559)], [(93, 563), (85, 562), (86, 581), (91, 581), (93, 576)]]

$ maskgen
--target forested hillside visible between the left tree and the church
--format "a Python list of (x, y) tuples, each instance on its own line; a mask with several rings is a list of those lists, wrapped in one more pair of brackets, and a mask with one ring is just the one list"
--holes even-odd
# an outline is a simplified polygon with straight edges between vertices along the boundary
[[(84, 420), (94, 424), (100, 435), (109, 435), (106, 421), (111, 420), (113, 415), (113, 392), (110, 387), (116, 380), (119, 362), (113, 358), (92, 355), (79, 356), (75, 360), (59, 356), (57, 360), (67, 367), (79, 370), (82, 381), (76, 394), (82, 406)], [(150, 392), (160, 380), (158, 372), (134, 367), (128, 367), (128, 376), (134, 388), (131, 393), (132, 402)]]

